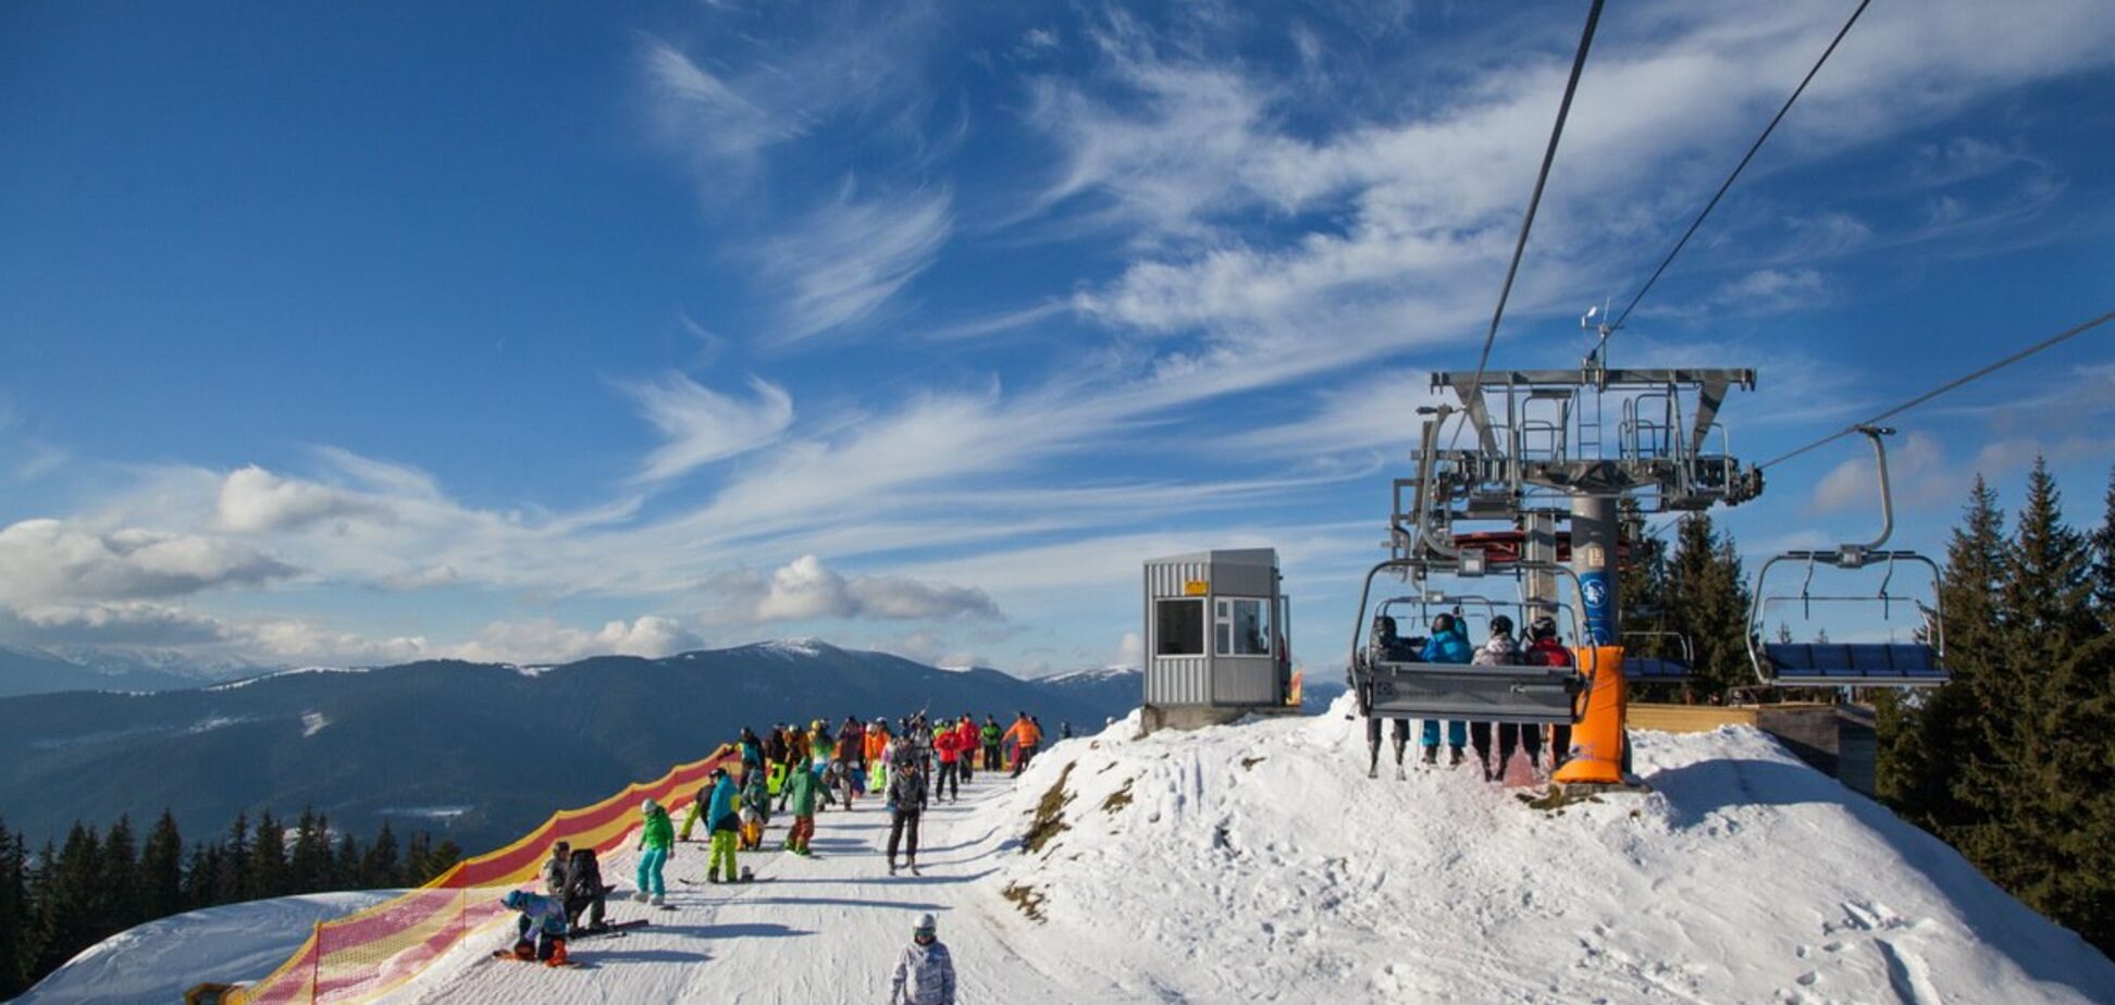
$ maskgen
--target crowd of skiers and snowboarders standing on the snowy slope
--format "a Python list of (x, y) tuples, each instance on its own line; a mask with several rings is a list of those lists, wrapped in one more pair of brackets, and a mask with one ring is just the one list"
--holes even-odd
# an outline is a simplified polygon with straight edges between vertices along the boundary
[[(1070, 732), (1066, 724), (1064, 734)], [(1005, 728), (992, 715), (977, 724), (969, 713), (958, 719), (928, 719), (924, 711), (899, 717), (893, 728), (888, 719), (865, 724), (854, 717), (846, 717), (835, 732), (823, 719), (814, 719), (808, 728), (776, 724), (766, 736), (742, 728), (736, 738), (738, 774), (723, 766), (713, 768), (681, 827), (660, 802), (647, 798), (639, 804), (639, 865), (632, 876), (632, 897), (654, 906), (666, 903), (668, 857), (677, 842), (694, 840), (700, 821), (711, 842), (706, 882), (742, 882), (751, 872), (738, 867), (736, 853), (764, 848), (764, 827), (774, 812), (793, 817), (780, 848), (810, 857), (814, 815), (829, 806), (848, 810), (867, 793), (882, 793), (890, 815), (888, 874), (897, 874), (901, 853), (903, 867), (916, 876), (918, 823), (926, 806), (937, 800), (958, 802), (962, 785), (977, 772), (1011, 770), (1017, 776), (1041, 745), (1043, 726), (1026, 711)], [(603, 914), (613, 891), (613, 884), (603, 882), (592, 848), (571, 848), (563, 840), (552, 844), (552, 855), (544, 863), (544, 893), (514, 891), (501, 901), (508, 910), (520, 912), (512, 954), (552, 967), (567, 965), (569, 937), (611, 927)], [(931, 914), (918, 918), (912, 931), (912, 946), (897, 963), (888, 1001), (954, 1003), (954, 961), (935, 937)]]

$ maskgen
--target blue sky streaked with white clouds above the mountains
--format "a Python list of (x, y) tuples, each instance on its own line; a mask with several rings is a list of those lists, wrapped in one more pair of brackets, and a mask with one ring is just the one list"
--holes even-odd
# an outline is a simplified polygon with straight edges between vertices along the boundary
[[(1250, 6), (0, 6), (0, 641), (1043, 673), (1277, 546), (1332, 664), (1584, 4)], [(1612, 6), (1493, 366), (1576, 364), (1851, 6)], [(2107, 311), (2109, 93), (2104, 4), (1876, 2), (1614, 360), (1760, 368), (1760, 461)], [(2037, 453), (2096, 520), (2111, 400), (2096, 332), (1904, 417), (1899, 542)]]

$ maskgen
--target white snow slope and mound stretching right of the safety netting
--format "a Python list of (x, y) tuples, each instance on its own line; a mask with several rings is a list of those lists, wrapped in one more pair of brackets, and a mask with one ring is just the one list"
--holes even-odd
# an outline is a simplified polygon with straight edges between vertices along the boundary
[[(1563, 812), (1464, 770), (1364, 779), (1339, 713), (1134, 741), (1136, 721), (979, 776), (924, 825), (922, 878), (882, 867), (878, 802), (819, 817), (768, 882), (668, 867), (673, 912), (548, 971), (474, 935), (391, 1001), (884, 1001), (918, 912), (964, 1003), (2088, 1003), (2115, 965), (1937, 840), (1753, 730), (1639, 734), (1650, 796)], [(1383, 757), (1385, 760), (1385, 757)], [(1019, 838), (1062, 789), (1038, 855)], [(1125, 793), (1125, 796), (1119, 796)], [(1055, 798), (1053, 798), (1055, 802)], [(785, 821), (774, 821), (774, 836)], [(628, 887), (630, 857), (607, 876)], [(1032, 891), (1030, 920), (1003, 891)]]

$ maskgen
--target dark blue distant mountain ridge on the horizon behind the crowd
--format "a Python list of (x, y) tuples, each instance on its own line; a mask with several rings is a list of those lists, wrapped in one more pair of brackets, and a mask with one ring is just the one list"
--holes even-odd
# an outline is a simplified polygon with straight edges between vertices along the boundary
[(146, 821), (169, 806), (203, 834), (239, 810), (313, 804), (334, 827), (372, 834), (391, 819), (480, 851), (702, 757), (742, 726), (920, 709), (1005, 721), (1026, 709), (1055, 730), (1136, 705), (1136, 686), (1081, 692), (808, 639), (548, 669), (309, 666), (152, 694), (0, 698), (0, 806), (32, 844), (74, 819)]

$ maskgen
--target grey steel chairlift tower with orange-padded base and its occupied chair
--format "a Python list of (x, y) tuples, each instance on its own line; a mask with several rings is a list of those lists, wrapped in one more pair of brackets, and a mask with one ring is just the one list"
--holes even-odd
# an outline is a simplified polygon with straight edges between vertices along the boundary
[[(1421, 408), (1415, 476), (1394, 482), (1392, 556), (1366, 575), (1351, 635), (1351, 686), (1368, 717), (1377, 762), (1379, 719), (1472, 719), (1578, 724), (1565, 785), (1622, 785), (1622, 597), (1618, 561), (1643, 516), (1736, 506), (1762, 493), (1762, 474), (1732, 455), (1719, 408), (1753, 389), (1749, 368), (1610, 368), (1601, 345), (1576, 370), (1436, 372), (1445, 400)], [(1605, 406), (1616, 408), (1614, 436)], [(1442, 436), (1451, 440), (1442, 442)], [(1468, 440), (1464, 446), (1455, 442)], [(1612, 449), (1612, 451), (1610, 451)], [(1567, 523), (1563, 533), (1557, 527)], [(1519, 546), (1491, 550), (1491, 533)], [(1629, 533), (1624, 533), (1629, 525)], [(1561, 563), (1569, 546), (1569, 563)], [(1571, 641), (1578, 671), (1514, 666), (1449, 669), (1362, 643), (1366, 603), (1381, 571), (1442, 597), (1434, 573), (1476, 580), (1510, 575), (1523, 614), (1559, 611), (1559, 584), (1578, 597)], [(1392, 622), (1390, 622), (1392, 624)], [(1586, 696), (1584, 711), (1580, 694)], [(1398, 766), (1402, 736), (1398, 726)]]

